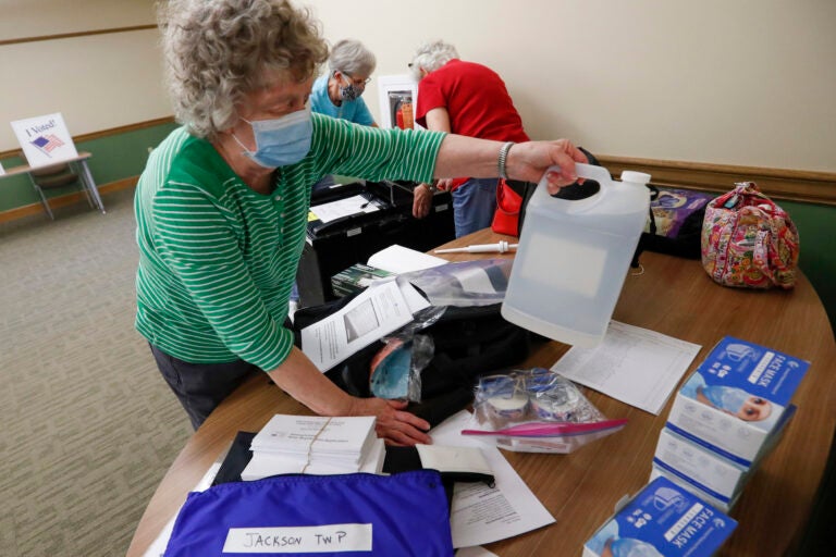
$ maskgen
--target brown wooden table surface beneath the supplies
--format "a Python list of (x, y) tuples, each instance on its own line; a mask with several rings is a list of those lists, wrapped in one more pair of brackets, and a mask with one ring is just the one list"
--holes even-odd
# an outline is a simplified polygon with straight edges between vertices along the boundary
[[(513, 238), (485, 230), (444, 247), (497, 239)], [(444, 257), (475, 258), (469, 253)], [(812, 362), (794, 397), (798, 412), (733, 509), (740, 524), (721, 552), (735, 557), (783, 555), (803, 532), (836, 424), (836, 343), (822, 302), (803, 275), (791, 292), (741, 290), (712, 282), (699, 261), (646, 252), (641, 262), (643, 274), (627, 276), (613, 318), (702, 345), (692, 368), (727, 334)], [(567, 349), (549, 343), (525, 364), (551, 366)], [(660, 416), (652, 416), (587, 393), (607, 418), (628, 418), (628, 425), (571, 455), (504, 453), (556, 523), (488, 546), (497, 555), (579, 556), (583, 542), (612, 513), (615, 503), (648, 482), (671, 404)], [(169, 469), (137, 527), (128, 556), (144, 553), (235, 432), (257, 431), (274, 413), (310, 412), (269, 386), (266, 376), (249, 381), (225, 400)]]

